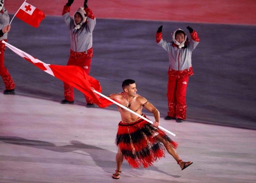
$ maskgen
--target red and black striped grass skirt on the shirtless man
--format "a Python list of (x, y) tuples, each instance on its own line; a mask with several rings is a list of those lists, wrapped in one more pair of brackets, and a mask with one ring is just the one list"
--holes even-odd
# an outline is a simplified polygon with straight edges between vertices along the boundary
[[(144, 114), (142, 116), (146, 118)], [(142, 118), (131, 123), (119, 122), (115, 143), (132, 168), (146, 168), (161, 157), (165, 157), (166, 148), (154, 138), (156, 135), (162, 136), (170, 142), (173, 148), (177, 148), (178, 144), (172, 141), (165, 132)]]

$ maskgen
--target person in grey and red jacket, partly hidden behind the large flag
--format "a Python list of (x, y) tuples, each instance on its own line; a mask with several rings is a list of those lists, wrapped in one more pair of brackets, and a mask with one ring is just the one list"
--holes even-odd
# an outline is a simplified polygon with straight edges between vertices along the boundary
[[(68, 0), (64, 6), (62, 17), (70, 30), (70, 57), (67, 65), (80, 66), (89, 75), (92, 52), (92, 31), (96, 25), (96, 18), (92, 10), (87, 6), (87, 0), (84, 1), (84, 7), (79, 7), (73, 17), (69, 15), (70, 6), (74, 0)], [(64, 97), (62, 104), (74, 103), (74, 89), (72, 86), (64, 83)], [(86, 107), (93, 107), (94, 102), (85, 95)]]

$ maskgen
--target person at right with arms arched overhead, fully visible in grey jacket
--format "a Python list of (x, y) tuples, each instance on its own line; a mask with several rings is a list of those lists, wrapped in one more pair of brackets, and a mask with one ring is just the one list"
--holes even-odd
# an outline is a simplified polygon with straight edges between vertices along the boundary
[(167, 42), (162, 38), (162, 27), (156, 32), (156, 43), (168, 51), (168, 115), (165, 120), (176, 119), (176, 122), (186, 120), (186, 89), (188, 77), (194, 75), (192, 69), (192, 51), (199, 43), (199, 38), (192, 28), (187, 27), (191, 41), (187, 39), (185, 31), (177, 29), (172, 33), (173, 41)]

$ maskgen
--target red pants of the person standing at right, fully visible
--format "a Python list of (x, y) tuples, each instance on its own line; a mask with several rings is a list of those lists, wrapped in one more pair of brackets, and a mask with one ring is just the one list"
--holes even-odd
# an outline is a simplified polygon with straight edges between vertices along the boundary
[(186, 120), (186, 89), (188, 76), (177, 78), (169, 75), (167, 85), (168, 116)]

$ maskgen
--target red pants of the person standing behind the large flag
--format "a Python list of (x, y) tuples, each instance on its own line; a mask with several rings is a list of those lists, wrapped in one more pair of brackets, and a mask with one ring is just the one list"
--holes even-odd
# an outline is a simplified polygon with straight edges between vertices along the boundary
[[(90, 73), (90, 66), (91, 66), (91, 58), (90, 59), (74, 59), (69, 58), (67, 65), (75, 65), (80, 66), (84, 69), (85, 73), (89, 75)], [(71, 85), (68, 85), (67, 83), (64, 83), (64, 97), (68, 101), (74, 100), (74, 88)], [(89, 98), (88, 96), (84, 95), (86, 102), (88, 104), (94, 104), (93, 100)]]

